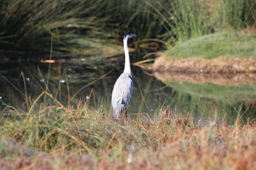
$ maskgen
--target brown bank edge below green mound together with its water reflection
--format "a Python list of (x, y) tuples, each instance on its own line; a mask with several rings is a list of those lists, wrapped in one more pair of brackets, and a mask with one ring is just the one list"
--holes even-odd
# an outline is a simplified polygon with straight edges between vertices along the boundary
[(256, 83), (254, 58), (159, 57), (152, 68), (154, 75), (161, 81), (214, 83), (222, 86)]

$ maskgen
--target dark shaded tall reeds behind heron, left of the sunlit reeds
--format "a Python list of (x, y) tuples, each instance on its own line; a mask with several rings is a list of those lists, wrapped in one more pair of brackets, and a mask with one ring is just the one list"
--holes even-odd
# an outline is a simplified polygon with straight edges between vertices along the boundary
[[(110, 57), (123, 52), (117, 40), (119, 34), (122, 37), (124, 31), (130, 30), (144, 38), (147, 25), (156, 24), (152, 22), (156, 19), (147, 18), (147, 11), (140, 9), (143, 1), (18, 0), (1, 4), (3, 53), (47, 53), (53, 36), (53, 57)], [(133, 22), (140, 26), (135, 29), (130, 24)], [(149, 29), (147, 37), (152, 37), (153, 32)]]

